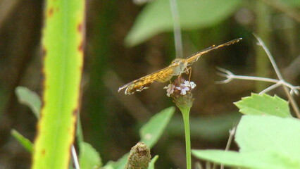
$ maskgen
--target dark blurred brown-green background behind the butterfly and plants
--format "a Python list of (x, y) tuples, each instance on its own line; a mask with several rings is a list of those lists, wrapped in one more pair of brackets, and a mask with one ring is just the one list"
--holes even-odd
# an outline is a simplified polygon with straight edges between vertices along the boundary
[[(256, 8), (258, 3), (261, 1), (245, 1), (218, 25), (182, 32), (184, 56), (212, 44), (243, 38), (238, 44), (206, 54), (192, 66), (192, 81), (197, 84), (191, 111), (192, 149), (225, 149), (228, 130), (241, 115), (232, 102), (260, 91), (265, 85), (243, 80), (215, 84), (223, 80), (215, 74), (216, 66), (236, 75), (276, 77), (268, 61), (268, 71), (262, 73), (257, 69), (258, 56), (267, 56), (257, 49), (252, 32), (258, 32), (265, 40), (285, 80), (300, 84), (299, 23), (269, 4), (263, 4), (268, 15), (262, 14)], [(10, 130), (18, 130), (31, 141), (35, 138), (37, 120), (29, 108), (18, 103), (14, 90), (24, 86), (42, 94), (43, 7), (44, 2), (39, 0), (0, 1), (0, 168), (30, 168), (30, 154), (11, 137)], [(165, 67), (175, 58), (172, 32), (156, 35), (132, 48), (125, 47), (124, 38), (142, 8), (132, 1), (87, 1), (80, 116), (85, 141), (100, 152), (103, 163), (115, 161), (130, 151), (139, 141), (139, 127), (155, 113), (174, 106), (163, 89), (167, 83), (152, 84), (150, 89), (131, 96), (118, 93), (118, 87)], [(294, 10), (300, 17), (299, 8)], [(261, 17), (268, 18), (265, 25), (258, 23)], [(281, 89), (269, 94), (286, 99)], [(299, 104), (299, 96), (295, 99)], [(235, 144), (232, 149), (237, 149)], [(177, 110), (151, 154), (159, 155), (157, 168), (185, 168), (180, 111)], [(193, 160), (194, 163), (196, 159)]]

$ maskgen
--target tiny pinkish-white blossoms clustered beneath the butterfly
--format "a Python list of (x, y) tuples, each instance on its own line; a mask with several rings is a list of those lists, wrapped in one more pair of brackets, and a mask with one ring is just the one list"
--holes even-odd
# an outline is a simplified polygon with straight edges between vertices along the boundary
[(194, 82), (185, 80), (179, 87), (176, 87), (174, 84), (169, 84), (168, 86), (163, 87), (163, 89), (167, 89), (167, 96), (170, 96), (170, 94), (174, 93), (174, 90), (179, 90), (181, 95), (185, 95), (187, 94), (187, 91), (190, 91), (195, 87), (196, 84)]

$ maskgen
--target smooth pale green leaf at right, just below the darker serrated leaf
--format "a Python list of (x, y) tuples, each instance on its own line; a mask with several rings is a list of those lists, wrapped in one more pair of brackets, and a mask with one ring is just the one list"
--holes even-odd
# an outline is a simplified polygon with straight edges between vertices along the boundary
[(298, 119), (244, 115), (237, 127), (235, 141), (241, 152), (276, 151), (300, 161), (299, 131)]

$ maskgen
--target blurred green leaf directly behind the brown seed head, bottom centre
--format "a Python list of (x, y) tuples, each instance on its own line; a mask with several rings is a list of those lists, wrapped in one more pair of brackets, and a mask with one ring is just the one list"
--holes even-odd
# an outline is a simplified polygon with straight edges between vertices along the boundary
[(174, 112), (175, 108), (170, 107), (154, 115), (149, 122), (139, 130), (141, 137), (140, 142), (144, 142), (144, 144), (152, 148), (161, 137), (161, 134), (163, 134), (163, 130), (165, 130)]

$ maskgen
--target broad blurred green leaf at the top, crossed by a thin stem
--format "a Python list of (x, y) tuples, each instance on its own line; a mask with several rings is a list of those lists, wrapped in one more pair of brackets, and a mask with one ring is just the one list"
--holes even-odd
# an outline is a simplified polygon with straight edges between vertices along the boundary
[[(177, 0), (182, 30), (211, 27), (228, 18), (241, 4), (239, 0)], [(146, 4), (125, 38), (127, 46), (135, 46), (161, 32), (173, 31), (169, 0)]]

